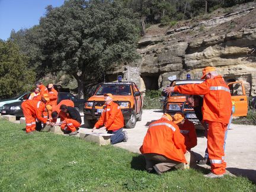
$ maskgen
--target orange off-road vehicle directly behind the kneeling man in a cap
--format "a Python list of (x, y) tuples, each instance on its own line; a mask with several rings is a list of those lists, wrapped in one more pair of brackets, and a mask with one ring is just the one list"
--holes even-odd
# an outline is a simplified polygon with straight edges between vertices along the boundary
[(85, 127), (93, 127), (104, 108), (104, 94), (114, 95), (114, 102), (119, 104), (126, 128), (134, 128), (142, 120), (143, 98), (134, 82), (107, 82), (100, 84), (94, 94), (85, 101)]

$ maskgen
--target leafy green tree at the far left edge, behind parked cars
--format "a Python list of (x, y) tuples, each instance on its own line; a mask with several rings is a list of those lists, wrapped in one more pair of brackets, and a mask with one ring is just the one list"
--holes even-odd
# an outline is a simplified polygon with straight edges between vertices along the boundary
[(11, 41), (0, 41), (0, 98), (31, 89), (35, 73), (28, 69), (28, 57)]

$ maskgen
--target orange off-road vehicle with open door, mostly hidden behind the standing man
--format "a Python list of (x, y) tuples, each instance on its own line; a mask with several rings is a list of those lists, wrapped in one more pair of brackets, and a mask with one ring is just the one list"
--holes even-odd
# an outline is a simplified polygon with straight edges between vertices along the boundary
[[(172, 81), (171, 86), (185, 85), (185, 84), (200, 84), (204, 80), (176, 80)], [(248, 104), (247, 95), (245, 94), (245, 88), (242, 81), (227, 82), (229, 89), (231, 90), (232, 107), (233, 107), (233, 117), (247, 116)], [(203, 128), (200, 121), (197, 119), (194, 113), (193, 107), (188, 105), (186, 102), (186, 95), (180, 94), (178, 92), (172, 92), (167, 95), (164, 100), (164, 112), (175, 114), (178, 111), (185, 114), (188, 120), (193, 121), (193, 123), (198, 129)]]

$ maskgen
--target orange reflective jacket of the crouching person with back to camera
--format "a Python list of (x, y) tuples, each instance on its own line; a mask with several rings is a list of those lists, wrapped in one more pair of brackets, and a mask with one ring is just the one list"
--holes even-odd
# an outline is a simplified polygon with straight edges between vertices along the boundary
[(187, 163), (184, 156), (184, 136), (176, 124), (164, 117), (149, 125), (140, 152), (157, 153), (174, 161)]

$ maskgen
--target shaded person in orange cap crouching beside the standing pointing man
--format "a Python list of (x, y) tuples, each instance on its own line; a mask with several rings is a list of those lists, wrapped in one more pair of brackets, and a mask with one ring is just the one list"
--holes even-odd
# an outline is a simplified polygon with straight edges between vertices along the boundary
[(173, 122), (180, 128), (180, 132), (185, 139), (186, 149), (187, 151), (190, 151), (191, 148), (194, 148), (194, 146), (197, 145), (197, 135), (194, 123), (184, 119), (184, 114), (180, 112), (174, 114)]

